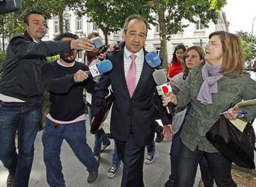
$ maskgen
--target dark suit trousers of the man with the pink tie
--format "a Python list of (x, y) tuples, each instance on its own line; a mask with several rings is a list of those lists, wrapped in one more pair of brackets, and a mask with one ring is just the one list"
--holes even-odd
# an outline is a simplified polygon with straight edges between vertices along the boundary
[(143, 161), (145, 147), (137, 145), (134, 134), (126, 142), (114, 139), (117, 152), (124, 163), (121, 187), (143, 187)]

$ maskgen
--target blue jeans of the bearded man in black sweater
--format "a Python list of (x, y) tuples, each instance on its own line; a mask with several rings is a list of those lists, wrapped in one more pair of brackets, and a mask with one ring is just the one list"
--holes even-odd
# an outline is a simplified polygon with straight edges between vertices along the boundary
[(66, 140), (75, 156), (82, 162), (89, 172), (97, 169), (98, 162), (93, 156), (92, 149), (87, 144), (85, 121), (72, 124), (59, 124), (45, 119), (45, 129), (42, 135), (43, 159), (46, 165), (46, 176), (50, 186), (62, 187), (65, 185), (59, 154), (62, 141)]

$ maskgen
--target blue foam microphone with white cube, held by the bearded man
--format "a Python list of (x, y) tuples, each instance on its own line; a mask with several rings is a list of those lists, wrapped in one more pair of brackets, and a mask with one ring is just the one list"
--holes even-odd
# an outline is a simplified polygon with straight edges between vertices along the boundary
[(96, 63), (93, 66), (89, 67), (89, 71), (85, 71), (88, 74), (92, 74), (93, 78), (96, 76), (106, 73), (110, 70), (112, 70), (113, 66), (110, 60), (103, 60), (99, 63)]

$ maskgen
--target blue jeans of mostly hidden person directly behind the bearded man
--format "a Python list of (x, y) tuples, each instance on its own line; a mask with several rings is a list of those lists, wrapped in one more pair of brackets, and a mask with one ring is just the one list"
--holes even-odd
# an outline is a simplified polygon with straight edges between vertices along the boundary
[[(89, 115), (90, 126), (92, 126), (92, 109), (90, 108), (90, 106), (88, 106), (88, 115)], [(101, 144), (103, 145), (110, 144), (110, 140), (108, 139), (108, 137), (106, 137), (106, 133), (103, 129), (100, 129), (95, 133), (95, 140), (94, 140), (94, 146), (93, 146), (93, 153), (95, 156), (100, 155)]]

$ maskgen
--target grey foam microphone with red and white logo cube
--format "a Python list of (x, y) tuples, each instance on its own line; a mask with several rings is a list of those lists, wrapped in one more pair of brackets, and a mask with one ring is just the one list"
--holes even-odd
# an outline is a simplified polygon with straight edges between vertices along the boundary
[[(153, 79), (158, 86), (156, 86), (156, 90), (158, 91), (158, 95), (164, 95), (172, 92), (171, 84), (166, 78), (166, 74), (164, 70), (156, 70), (153, 73)], [(165, 106), (166, 112), (168, 114), (174, 113), (175, 105), (170, 102), (167, 106)]]

